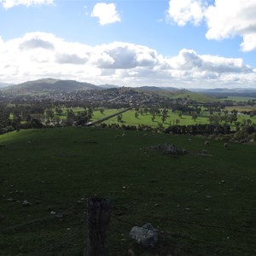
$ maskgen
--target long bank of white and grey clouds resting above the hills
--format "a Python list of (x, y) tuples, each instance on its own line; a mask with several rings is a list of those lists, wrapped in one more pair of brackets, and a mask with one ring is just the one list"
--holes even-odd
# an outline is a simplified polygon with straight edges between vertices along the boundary
[(242, 59), (199, 55), (193, 49), (167, 57), (143, 45), (113, 42), (91, 47), (44, 32), (6, 42), (0, 38), (0, 82), (45, 77), (129, 86), (256, 86), (256, 70)]

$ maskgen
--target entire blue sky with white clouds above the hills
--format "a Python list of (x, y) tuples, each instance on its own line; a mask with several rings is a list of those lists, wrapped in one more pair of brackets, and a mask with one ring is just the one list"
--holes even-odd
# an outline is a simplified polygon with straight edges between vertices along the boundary
[(256, 0), (0, 0), (0, 82), (256, 88)]

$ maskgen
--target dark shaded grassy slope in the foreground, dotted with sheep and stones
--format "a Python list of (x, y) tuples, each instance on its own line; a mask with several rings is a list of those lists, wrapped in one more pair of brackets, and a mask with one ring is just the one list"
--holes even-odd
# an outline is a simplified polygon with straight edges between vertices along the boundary
[[(173, 157), (147, 148), (174, 143), (200, 153), (205, 138), (122, 133), (53, 128), (1, 135), (0, 255), (83, 255), (86, 199), (95, 194), (112, 204), (109, 255), (256, 254), (254, 145), (224, 150), (212, 141), (212, 157)], [(146, 222), (168, 232), (152, 251), (129, 237), (133, 225)]]

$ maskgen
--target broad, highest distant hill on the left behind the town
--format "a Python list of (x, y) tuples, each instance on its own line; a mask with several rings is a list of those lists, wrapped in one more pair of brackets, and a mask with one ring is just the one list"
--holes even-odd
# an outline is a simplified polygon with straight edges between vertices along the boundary
[(94, 84), (81, 83), (74, 80), (59, 80), (59, 79), (39, 79), (29, 81), (22, 84), (15, 84), (11, 87), (6, 87), (4, 90), (9, 90), (13, 93), (30, 94), (50, 91), (73, 91), (73, 90), (96, 90), (100, 89)]

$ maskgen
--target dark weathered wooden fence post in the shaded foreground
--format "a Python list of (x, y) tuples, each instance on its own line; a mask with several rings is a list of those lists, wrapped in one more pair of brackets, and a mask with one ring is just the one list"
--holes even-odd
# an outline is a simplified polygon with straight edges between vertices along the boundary
[(108, 248), (105, 245), (106, 230), (110, 217), (108, 199), (90, 197), (87, 203), (88, 211), (88, 246), (86, 256), (105, 256)]

